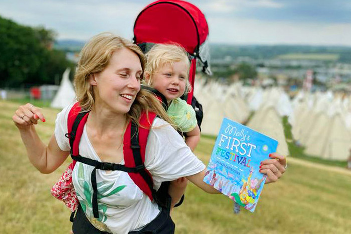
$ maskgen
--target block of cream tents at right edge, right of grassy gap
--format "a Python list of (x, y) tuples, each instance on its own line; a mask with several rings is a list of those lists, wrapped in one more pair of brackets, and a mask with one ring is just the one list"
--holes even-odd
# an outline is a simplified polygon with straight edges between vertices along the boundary
[(351, 149), (351, 105), (347, 96), (299, 93), (289, 117), (292, 133), (305, 153), (323, 159), (347, 160)]

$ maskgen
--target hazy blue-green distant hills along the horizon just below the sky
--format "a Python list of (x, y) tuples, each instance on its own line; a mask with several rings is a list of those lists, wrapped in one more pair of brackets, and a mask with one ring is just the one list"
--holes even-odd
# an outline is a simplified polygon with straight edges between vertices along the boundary
[[(54, 47), (67, 52), (79, 52), (85, 41), (57, 40)], [(212, 43), (209, 45), (210, 61), (224, 58), (235, 60), (238, 57), (252, 59), (306, 59), (325, 58), (333, 62), (351, 63), (351, 47), (347, 46), (301, 46), (301, 45), (231, 45)], [(304, 55), (304, 56), (291, 56)]]

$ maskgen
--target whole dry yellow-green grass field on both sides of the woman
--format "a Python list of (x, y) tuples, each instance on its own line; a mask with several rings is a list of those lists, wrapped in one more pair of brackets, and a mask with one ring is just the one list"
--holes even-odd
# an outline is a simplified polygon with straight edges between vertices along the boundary
[[(0, 101), (0, 233), (68, 234), (69, 210), (50, 194), (70, 162), (40, 174), (30, 164), (11, 116), (16, 103)], [(53, 133), (57, 110), (43, 109), (37, 131), (44, 142)], [(214, 144), (202, 138), (196, 154), (205, 164)], [(232, 213), (233, 202), (189, 184), (184, 204), (173, 213), (178, 234), (185, 233), (350, 233), (351, 173), (289, 163), (278, 183), (266, 185), (255, 213)]]

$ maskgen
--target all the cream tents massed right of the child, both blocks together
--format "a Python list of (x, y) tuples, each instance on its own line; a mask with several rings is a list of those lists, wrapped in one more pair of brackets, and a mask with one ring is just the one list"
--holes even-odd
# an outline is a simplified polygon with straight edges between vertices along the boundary
[(288, 117), (294, 142), (305, 153), (328, 160), (347, 160), (351, 149), (351, 98), (331, 91), (299, 92), (292, 100), (278, 87), (244, 87), (200, 81), (194, 89), (203, 103), (202, 133), (216, 135), (224, 117), (246, 124), (276, 140), (288, 155), (282, 118)]

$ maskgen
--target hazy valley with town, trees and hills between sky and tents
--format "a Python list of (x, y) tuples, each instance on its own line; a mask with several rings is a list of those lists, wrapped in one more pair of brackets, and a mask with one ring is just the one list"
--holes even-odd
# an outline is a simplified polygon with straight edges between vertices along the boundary
[[(77, 62), (84, 43), (59, 40), (54, 47), (66, 51), (67, 58)], [(202, 53), (208, 53), (210, 58), (213, 75), (208, 79), (298, 89), (311, 74), (312, 91), (351, 92), (351, 47), (209, 44)]]

